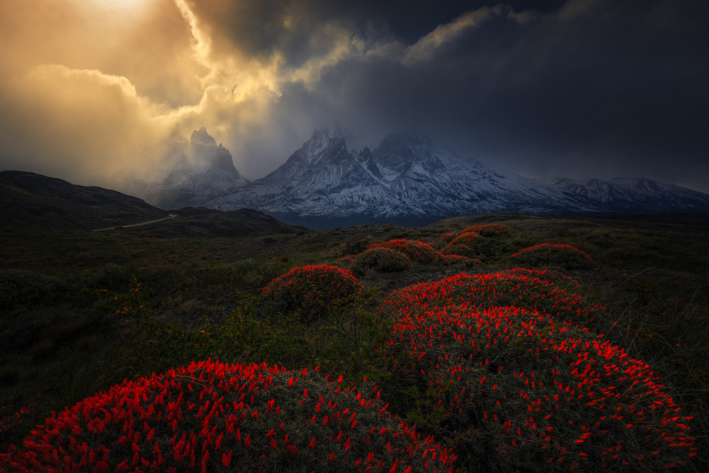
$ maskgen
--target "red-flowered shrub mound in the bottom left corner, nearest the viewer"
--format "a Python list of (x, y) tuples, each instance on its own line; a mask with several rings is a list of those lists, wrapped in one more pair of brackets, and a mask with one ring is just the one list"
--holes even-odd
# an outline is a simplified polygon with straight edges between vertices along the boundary
[(124, 381), (38, 425), (0, 471), (452, 471), (379, 391), (317, 372), (193, 362)]

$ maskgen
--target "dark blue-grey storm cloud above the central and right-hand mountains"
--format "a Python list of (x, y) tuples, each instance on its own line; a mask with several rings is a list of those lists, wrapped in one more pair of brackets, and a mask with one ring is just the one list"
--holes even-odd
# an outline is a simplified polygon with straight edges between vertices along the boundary
[(435, 47), (390, 28), (316, 84), (284, 84), (276, 108), (307, 107), (372, 138), (418, 126), (524, 174), (644, 175), (709, 191), (707, 13), (703, 1), (602, 0), (461, 11)]

